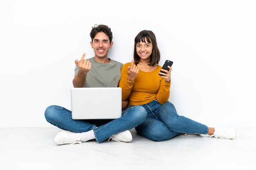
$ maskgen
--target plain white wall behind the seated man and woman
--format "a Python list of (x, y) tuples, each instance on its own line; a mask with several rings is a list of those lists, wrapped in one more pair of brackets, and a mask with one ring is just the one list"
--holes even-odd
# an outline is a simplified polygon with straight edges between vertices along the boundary
[(209, 126), (255, 126), (253, 0), (0, 0), (0, 127), (52, 127), (49, 105), (71, 109), (74, 60), (93, 57), (90, 30), (113, 32), (110, 58), (130, 62), (134, 37), (157, 36), (174, 62), (170, 101)]

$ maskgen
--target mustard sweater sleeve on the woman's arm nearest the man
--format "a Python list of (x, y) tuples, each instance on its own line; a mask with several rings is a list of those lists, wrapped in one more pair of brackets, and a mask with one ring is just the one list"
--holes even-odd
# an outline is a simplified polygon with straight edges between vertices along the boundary
[(134, 85), (134, 81), (128, 81), (128, 65), (130, 63), (126, 63), (121, 69), (121, 78), (119, 81), (119, 87), (122, 88), (122, 100), (126, 100), (129, 98), (130, 93), (132, 91), (132, 87)]

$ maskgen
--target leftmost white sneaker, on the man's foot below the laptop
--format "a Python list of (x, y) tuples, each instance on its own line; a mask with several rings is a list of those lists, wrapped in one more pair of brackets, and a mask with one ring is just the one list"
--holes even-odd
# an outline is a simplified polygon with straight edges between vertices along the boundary
[(81, 144), (79, 133), (74, 133), (70, 131), (62, 131), (58, 133), (54, 140), (54, 144), (63, 145), (63, 144)]

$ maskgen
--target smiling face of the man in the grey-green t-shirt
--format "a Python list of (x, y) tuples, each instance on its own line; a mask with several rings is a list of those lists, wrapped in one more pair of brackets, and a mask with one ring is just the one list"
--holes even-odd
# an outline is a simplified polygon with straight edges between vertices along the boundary
[(113, 42), (110, 43), (108, 35), (103, 32), (97, 33), (91, 41), (91, 46), (94, 50), (95, 57), (108, 58), (109, 49), (112, 48)]

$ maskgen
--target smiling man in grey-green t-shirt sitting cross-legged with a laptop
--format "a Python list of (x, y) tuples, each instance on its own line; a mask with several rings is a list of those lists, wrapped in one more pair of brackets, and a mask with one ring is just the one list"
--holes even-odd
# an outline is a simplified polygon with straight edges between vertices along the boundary
[[(113, 46), (112, 31), (106, 25), (95, 25), (90, 37), (94, 57), (85, 59), (84, 53), (80, 61), (75, 60), (74, 87), (118, 87), (123, 64), (108, 58), (108, 52)], [(122, 108), (127, 106), (128, 100), (122, 101)], [(123, 111), (121, 118), (107, 122), (73, 120), (71, 114), (70, 110), (56, 105), (45, 110), (47, 122), (65, 130), (56, 135), (55, 144), (81, 144), (91, 139), (101, 143), (108, 138), (130, 142), (132, 135), (128, 130), (141, 124), (147, 116), (146, 110), (141, 106), (130, 107)]]

